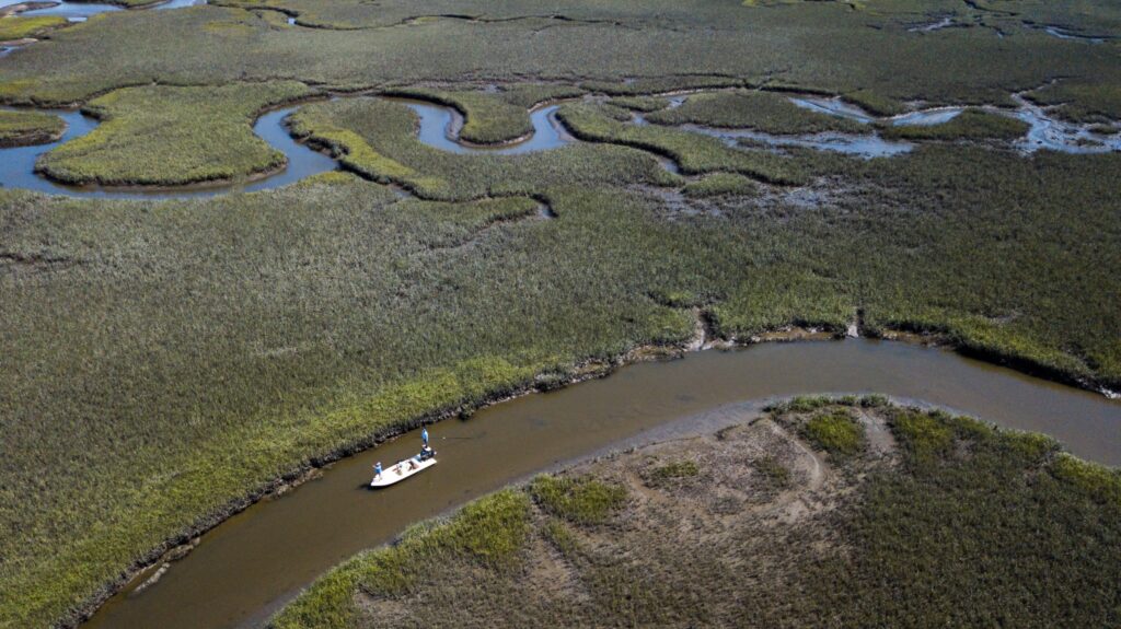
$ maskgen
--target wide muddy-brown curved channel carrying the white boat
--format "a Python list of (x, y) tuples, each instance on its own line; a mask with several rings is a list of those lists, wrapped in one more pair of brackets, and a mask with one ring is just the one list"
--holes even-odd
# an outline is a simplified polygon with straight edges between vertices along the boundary
[(117, 595), (87, 627), (258, 627), (332, 565), (511, 481), (606, 449), (740, 422), (769, 397), (826, 392), (921, 400), (1121, 463), (1121, 402), (951, 351), (867, 339), (708, 350), (438, 423), (430, 433), (439, 464), (389, 489), (365, 488), (371, 466), (414, 453), (415, 433), (339, 461), (207, 533), (163, 579)]

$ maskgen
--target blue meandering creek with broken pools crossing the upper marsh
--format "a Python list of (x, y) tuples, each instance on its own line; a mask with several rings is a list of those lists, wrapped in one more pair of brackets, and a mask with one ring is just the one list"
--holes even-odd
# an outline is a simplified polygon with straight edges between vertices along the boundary
[[(183, 2), (189, 2), (189, 0), (183, 0)], [(168, 2), (165, 6), (177, 6), (177, 1)], [(400, 102), (416, 112), (419, 119), (418, 139), (420, 142), (453, 153), (524, 154), (550, 150), (577, 141), (557, 120), (556, 111), (560, 105), (556, 103), (535, 107), (530, 111), (532, 133), (526, 138), (504, 144), (474, 145), (460, 140), (460, 129), (462, 129), (464, 122), (463, 115), (453, 107), (408, 98), (386, 97), (386, 100)], [(669, 100), (669, 106), (679, 106), (684, 100), (685, 96), (673, 96)], [(965, 111), (965, 107), (947, 106), (919, 110), (890, 118), (877, 118), (839, 97), (789, 96), (789, 100), (800, 107), (817, 113), (854, 120), (870, 126), (877, 123), (895, 125), (944, 124)], [(1025, 138), (1015, 143), (1022, 152), (1030, 153), (1044, 149), (1074, 153), (1121, 151), (1121, 132), (1112, 135), (1094, 133), (1088, 125), (1064, 122), (1049, 115), (1047, 107), (1030, 102), (1022, 94), (1015, 94), (1012, 100), (1017, 104), (1017, 109), (1015, 110), (991, 106), (983, 109), (1017, 118), (1029, 124), (1029, 131)], [(337, 169), (339, 165), (334, 159), (297, 142), (288, 133), (285, 126), (285, 119), (296, 109), (298, 106), (270, 111), (261, 115), (253, 124), (253, 132), (258, 137), (287, 157), (288, 161), (285, 168), (247, 181), (200, 184), (172, 188), (74, 187), (39, 176), (35, 171), (35, 162), (39, 156), (64, 142), (81, 138), (93, 131), (98, 125), (96, 120), (78, 111), (40, 110), (62, 116), (67, 123), (65, 134), (61, 140), (47, 144), (0, 149), (0, 158), (2, 158), (0, 159), (0, 185), (8, 188), (22, 188), (67, 196), (168, 199), (268, 190), (293, 184), (313, 175)], [(634, 114), (630, 123), (637, 125), (649, 124), (642, 114)], [(907, 141), (886, 140), (876, 133), (874, 129), (870, 129), (868, 133), (809, 133), (800, 135), (779, 135), (749, 129), (722, 129), (698, 124), (685, 124), (679, 126), (679, 129), (719, 138), (732, 148), (738, 148), (744, 142), (763, 144), (775, 149), (803, 147), (843, 152), (865, 159), (897, 156), (906, 153), (915, 147), (914, 143)], [(659, 162), (670, 171), (677, 170), (676, 165), (671, 161), (659, 159)]]

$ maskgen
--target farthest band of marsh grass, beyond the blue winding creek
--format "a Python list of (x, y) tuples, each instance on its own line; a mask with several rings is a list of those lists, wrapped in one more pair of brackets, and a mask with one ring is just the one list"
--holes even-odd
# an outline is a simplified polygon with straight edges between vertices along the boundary
[[(897, 24), (891, 15), (839, 2), (753, 9), (581, 0), (558, 11), (565, 19), (543, 18), (527, 0), (442, 2), (419, 11), (405, 0), (376, 9), (356, 0), (244, 6), (284, 9), (326, 28), (277, 28), (252, 11), (217, 6), (106, 13), (6, 58), (0, 100), (65, 104), (154, 79), (217, 85), (290, 77), (344, 88), (540, 81), (617, 95), (766, 84), (890, 103), (880, 107), (887, 111), (910, 100), (1010, 104), (1010, 93), (1058, 74), (1106, 91), (1121, 85), (1112, 44), (1065, 41), (1022, 22), (1006, 39), (984, 27), (918, 35), (886, 28)], [(1108, 2), (1091, 6), (1086, 15), (1062, 12), (1108, 19)], [(444, 13), (481, 19), (435, 17)], [(418, 15), (433, 19), (406, 24)], [(458, 45), (466, 40), (478, 45)], [(135, 49), (145, 54), (129, 54)]]

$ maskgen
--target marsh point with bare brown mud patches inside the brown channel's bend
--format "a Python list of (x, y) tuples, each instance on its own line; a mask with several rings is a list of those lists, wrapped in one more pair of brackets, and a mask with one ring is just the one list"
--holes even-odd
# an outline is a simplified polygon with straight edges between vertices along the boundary
[(272, 626), (1106, 627), (1119, 515), (1046, 436), (795, 398), (415, 525)]

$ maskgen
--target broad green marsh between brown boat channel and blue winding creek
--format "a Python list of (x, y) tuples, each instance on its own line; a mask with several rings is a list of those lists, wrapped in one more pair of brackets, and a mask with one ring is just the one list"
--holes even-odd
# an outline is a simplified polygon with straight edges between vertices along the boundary
[[(400, 111), (391, 134), (352, 133), (445, 197), (532, 194), (556, 218), (490, 226), (493, 208), (434, 210), (342, 173), (147, 205), (0, 191), (6, 618), (87, 611), (138, 558), (279, 477), (587, 360), (687, 342), (697, 310), (744, 340), (841, 331), (859, 311), (867, 332), (933, 331), (1115, 382), (1118, 199), (1100, 186), (1115, 156), (932, 147), (682, 204), (642, 151), (472, 171), (473, 156), (425, 151)], [(546, 185), (580, 153), (609, 168)]]

